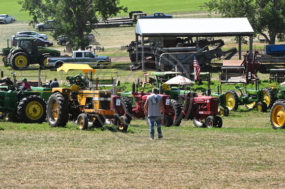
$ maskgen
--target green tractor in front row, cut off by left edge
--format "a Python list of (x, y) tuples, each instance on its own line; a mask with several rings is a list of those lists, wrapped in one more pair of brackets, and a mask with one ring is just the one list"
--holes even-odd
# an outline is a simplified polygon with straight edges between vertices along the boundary
[(22, 99), (17, 102), (20, 88), (13, 86), (13, 81), (5, 78), (8, 86), (0, 86), (0, 118), (12, 122), (42, 123), (46, 119), (47, 103), (44, 98), (52, 94), (49, 88), (31, 87), (32, 91), (23, 91)]

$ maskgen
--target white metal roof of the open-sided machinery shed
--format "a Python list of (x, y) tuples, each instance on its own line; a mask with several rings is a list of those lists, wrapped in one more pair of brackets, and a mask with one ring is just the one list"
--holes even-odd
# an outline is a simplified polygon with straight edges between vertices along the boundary
[(247, 18), (138, 19), (136, 34), (149, 36), (248, 36)]

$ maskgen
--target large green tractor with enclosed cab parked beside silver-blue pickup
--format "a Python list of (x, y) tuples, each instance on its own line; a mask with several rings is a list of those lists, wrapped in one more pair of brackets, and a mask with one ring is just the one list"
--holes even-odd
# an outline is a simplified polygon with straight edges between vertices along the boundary
[(4, 66), (11, 66), (14, 70), (28, 67), (30, 64), (39, 64), (47, 67), (47, 59), (52, 56), (60, 56), (60, 51), (37, 47), (33, 38), (17, 38), (17, 47), (2, 48)]

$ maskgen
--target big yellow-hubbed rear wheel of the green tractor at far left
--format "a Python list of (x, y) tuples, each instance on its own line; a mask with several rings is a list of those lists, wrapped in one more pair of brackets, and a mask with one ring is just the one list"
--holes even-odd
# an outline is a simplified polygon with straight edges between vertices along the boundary
[(47, 103), (37, 95), (24, 97), (18, 105), (18, 115), (21, 122), (42, 123), (47, 118)]

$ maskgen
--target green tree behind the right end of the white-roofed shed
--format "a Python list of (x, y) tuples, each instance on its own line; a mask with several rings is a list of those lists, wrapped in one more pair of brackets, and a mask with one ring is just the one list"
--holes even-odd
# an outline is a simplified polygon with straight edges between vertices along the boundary
[(222, 17), (247, 17), (255, 36), (262, 35), (269, 44), (276, 37), (285, 40), (285, 0), (210, 0), (201, 8)]

